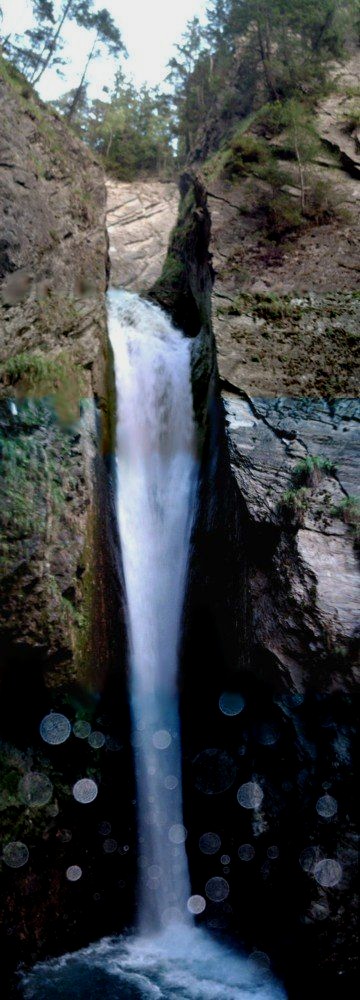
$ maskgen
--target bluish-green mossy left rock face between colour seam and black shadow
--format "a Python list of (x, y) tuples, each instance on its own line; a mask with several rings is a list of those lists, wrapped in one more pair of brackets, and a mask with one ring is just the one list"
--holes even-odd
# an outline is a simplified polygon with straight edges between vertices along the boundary
[(76, 639), (88, 642), (94, 407), (64, 427), (49, 402), (3, 400), (0, 442), (2, 673), (6, 683), (8, 656), (16, 671), (19, 645), (22, 658), (36, 649), (56, 687), (74, 679)]

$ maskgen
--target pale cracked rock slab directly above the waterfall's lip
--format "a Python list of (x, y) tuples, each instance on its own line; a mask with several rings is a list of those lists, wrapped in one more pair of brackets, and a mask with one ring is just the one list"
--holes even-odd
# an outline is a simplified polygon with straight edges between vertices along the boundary
[(179, 193), (162, 181), (107, 181), (111, 281), (145, 292), (159, 278), (175, 225)]

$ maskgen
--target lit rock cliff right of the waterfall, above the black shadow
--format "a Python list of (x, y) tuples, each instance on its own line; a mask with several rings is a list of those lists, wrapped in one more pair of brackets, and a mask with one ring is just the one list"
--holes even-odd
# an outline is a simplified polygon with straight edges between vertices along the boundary
[[(323, 224), (269, 238), (249, 176), (214, 178), (205, 166), (213, 325), (250, 538), (254, 649), (274, 680), (295, 688), (358, 680), (360, 194), (357, 137), (346, 124), (358, 68), (358, 53), (338, 67), (336, 91), (317, 112), (324, 145), (312, 169), (341, 209)], [(296, 186), (291, 197), (300, 198)]]

